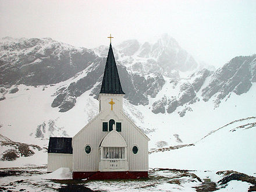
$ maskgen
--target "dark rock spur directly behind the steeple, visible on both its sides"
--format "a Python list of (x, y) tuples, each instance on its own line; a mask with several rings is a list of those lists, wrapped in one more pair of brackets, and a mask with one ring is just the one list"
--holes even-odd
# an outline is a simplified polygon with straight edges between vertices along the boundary
[[(133, 80), (127, 72), (126, 67), (122, 65), (117, 66), (122, 89), (126, 93), (125, 98), (127, 98), (133, 105), (148, 104), (148, 98), (134, 87)], [(69, 109), (72, 109), (76, 104), (77, 97), (93, 88), (94, 84), (99, 83), (90, 94), (95, 95), (94, 98), (97, 98), (101, 88), (104, 67), (105, 58), (95, 59), (93, 64), (87, 67), (88, 73), (85, 77), (71, 83), (69, 87), (63, 89), (62, 91), (58, 91), (58, 96), (52, 102), (52, 107), (58, 106), (60, 109), (59, 112), (66, 112)]]

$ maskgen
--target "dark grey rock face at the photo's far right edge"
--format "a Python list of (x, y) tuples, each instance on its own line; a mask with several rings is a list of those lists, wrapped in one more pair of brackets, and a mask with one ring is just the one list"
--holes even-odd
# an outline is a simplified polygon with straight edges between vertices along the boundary
[(221, 100), (227, 94), (234, 92), (237, 95), (246, 93), (252, 86), (255, 71), (256, 56), (237, 56), (222, 68), (216, 70), (212, 75), (212, 80), (202, 90), (204, 101), (208, 101), (216, 94), (217, 100)]

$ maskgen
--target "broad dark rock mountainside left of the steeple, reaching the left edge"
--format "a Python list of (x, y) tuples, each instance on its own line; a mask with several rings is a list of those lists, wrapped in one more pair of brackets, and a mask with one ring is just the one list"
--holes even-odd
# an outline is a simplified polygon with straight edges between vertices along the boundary
[(4, 85), (55, 84), (73, 77), (96, 58), (93, 51), (51, 38), (0, 43), (0, 81)]

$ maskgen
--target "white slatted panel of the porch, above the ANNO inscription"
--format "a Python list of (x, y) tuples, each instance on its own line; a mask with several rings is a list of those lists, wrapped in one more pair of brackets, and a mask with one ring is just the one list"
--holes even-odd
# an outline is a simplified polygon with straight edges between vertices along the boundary
[(125, 147), (103, 147), (103, 159), (125, 159)]

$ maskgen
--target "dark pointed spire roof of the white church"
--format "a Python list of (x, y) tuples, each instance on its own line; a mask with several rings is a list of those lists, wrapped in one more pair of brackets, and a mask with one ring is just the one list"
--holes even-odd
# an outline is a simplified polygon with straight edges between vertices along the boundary
[(111, 44), (109, 45), (108, 58), (106, 59), (105, 71), (101, 84), (101, 92), (99, 93), (125, 94), (121, 87), (118, 68), (116, 67)]

